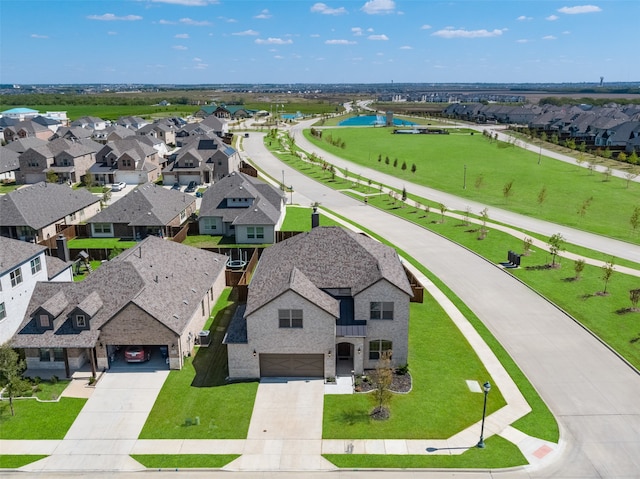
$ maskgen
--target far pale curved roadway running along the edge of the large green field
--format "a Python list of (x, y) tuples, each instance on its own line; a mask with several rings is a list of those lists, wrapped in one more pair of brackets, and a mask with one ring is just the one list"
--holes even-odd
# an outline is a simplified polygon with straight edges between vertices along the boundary
[[(606, 254), (640, 263), (640, 245), (634, 245), (631, 243), (626, 243), (624, 241), (606, 238), (604, 236), (587, 233), (585, 231), (580, 231), (555, 223), (538, 220), (536, 218), (531, 218), (510, 211), (502, 210), (494, 206), (484, 205), (482, 203), (471, 201), (465, 198), (460, 198), (449, 193), (444, 193), (442, 191), (434, 190), (426, 186), (421, 186), (415, 183), (401, 180), (394, 176), (387, 175), (385, 173), (381, 173), (364, 166), (356, 165), (340, 157), (327, 153), (325, 150), (322, 150), (309, 142), (302, 134), (302, 130), (305, 128), (309, 128), (314, 121), (315, 120), (300, 122), (298, 125), (292, 128), (291, 134), (294, 136), (298, 146), (309, 153), (316, 153), (321, 158), (336, 166), (340, 166), (341, 168), (348, 167), (349, 171), (354, 174), (360, 174), (366, 179), (371, 179), (376, 183), (383, 183), (384, 185), (392, 186), (400, 190), (403, 186), (406, 186), (407, 190), (410, 193), (421, 196), (423, 198), (429, 198), (430, 200), (437, 201), (439, 203), (443, 203), (450, 210), (453, 209), (458, 211), (465, 211), (467, 207), (471, 207), (472, 211), (478, 214), (485, 207), (487, 207), (489, 209), (489, 216), (492, 221), (509, 224), (514, 228), (532, 231), (534, 233), (539, 233), (547, 237), (555, 233), (562, 233), (562, 236), (564, 236), (568, 243), (584, 246), (585, 248), (602, 251)], [(558, 155), (557, 153), (553, 152), (548, 153)], [(249, 156), (253, 158), (251, 155)], [(462, 175), (462, 172), (460, 172), (460, 174)], [(280, 176), (276, 175), (275, 178), (280, 178)], [(287, 183), (289, 183), (289, 180), (287, 180)]]

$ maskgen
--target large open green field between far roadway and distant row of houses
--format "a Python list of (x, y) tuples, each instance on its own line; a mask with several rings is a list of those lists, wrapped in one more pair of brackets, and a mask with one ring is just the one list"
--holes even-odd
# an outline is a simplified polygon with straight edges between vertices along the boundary
[[(489, 141), (479, 133), (393, 135), (387, 128), (343, 128), (324, 130), (323, 138), (328, 136), (340, 138), (346, 147), (332, 146), (305, 131), (305, 137), (319, 147), (352, 161), (354, 171), (357, 165), (367, 166), (470, 200), (640, 243), (640, 235), (634, 235), (629, 224), (633, 207), (640, 205), (638, 183), (627, 188), (623, 179), (604, 181), (601, 174), (551, 158), (538, 164), (535, 152)], [(382, 155), (381, 162), (378, 155)], [(401, 169), (403, 162), (405, 170)], [(411, 173), (412, 164), (415, 173)], [(467, 187), (463, 189), (465, 168)], [(480, 177), (481, 185), (476, 187)], [(505, 199), (503, 189), (510, 181), (512, 194)], [(538, 195), (543, 187), (546, 199), (540, 205)], [(578, 212), (589, 199), (581, 216)]]

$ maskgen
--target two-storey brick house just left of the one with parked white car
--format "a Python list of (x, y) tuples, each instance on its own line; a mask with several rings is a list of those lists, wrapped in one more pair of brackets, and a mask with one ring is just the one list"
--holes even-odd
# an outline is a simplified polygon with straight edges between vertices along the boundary
[(88, 138), (77, 141), (57, 138), (42, 146), (29, 148), (20, 155), (17, 181), (38, 183), (45, 181), (47, 174), (53, 172), (60, 182), (79, 183), (95, 163), (99, 147), (98, 143)]

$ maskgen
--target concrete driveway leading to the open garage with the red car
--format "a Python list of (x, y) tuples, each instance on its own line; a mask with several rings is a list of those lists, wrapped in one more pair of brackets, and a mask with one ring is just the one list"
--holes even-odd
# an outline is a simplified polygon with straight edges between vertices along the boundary
[(22, 470), (142, 470), (129, 454), (164, 384), (168, 370), (106, 372), (51, 456)]

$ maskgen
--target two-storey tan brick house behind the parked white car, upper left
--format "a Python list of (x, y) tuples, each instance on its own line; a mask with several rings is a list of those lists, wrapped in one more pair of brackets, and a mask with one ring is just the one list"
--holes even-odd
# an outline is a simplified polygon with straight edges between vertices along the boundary
[(160, 177), (160, 158), (155, 148), (142, 137), (130, 136), (110, 141), (96, 154), (96, 162), (89, 169), (100, 184), (122, 181), (140, 185)]

